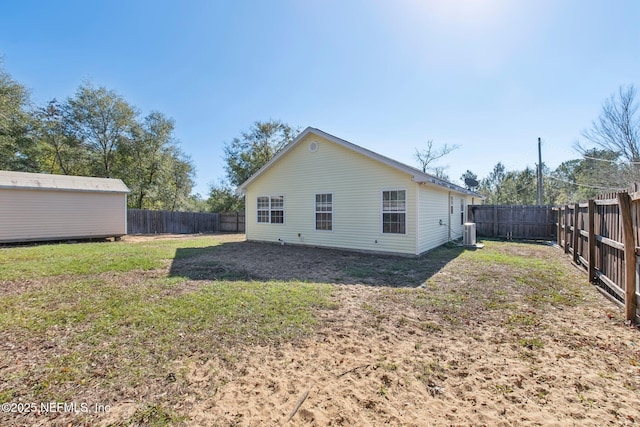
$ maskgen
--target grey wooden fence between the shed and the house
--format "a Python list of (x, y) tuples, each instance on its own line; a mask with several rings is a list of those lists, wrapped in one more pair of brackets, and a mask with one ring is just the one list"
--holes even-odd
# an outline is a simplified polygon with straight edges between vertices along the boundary
[(244, 213), (202, 213), (129, 209), (128, 234), (244, 233)]

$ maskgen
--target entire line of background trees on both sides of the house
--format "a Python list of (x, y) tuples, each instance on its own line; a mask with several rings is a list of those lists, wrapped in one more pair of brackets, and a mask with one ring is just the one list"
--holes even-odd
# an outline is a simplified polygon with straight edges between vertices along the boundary
[[(1, 64), (0, 64), (1, 65)], [(119, 94), (83, 83), (75, 94), (33, 107), (29, 93), (0, 67), (0, 169), (120, 178), (139, 209), (231, 212), (244, 209), (236, 188), (292, 142), (300, 128), (256, 121), (224, 144), (225, 176), (206, 200), (192, 195), (195, 168), (163, 113), (140, 112)], [(551, 170), (542, 165), (544, 204), (560, 205), (626, 189), (640, 182), (640, 117), (634, 86), (621, 86), (575, 143), (580, 158)], [(457, 149), (432, 140), (415, 150), (418, 167), (449, 180), (437, 161)], [(537, 171), (507, 170), (498, 162), (484, 178), (461, 177), (488, 204), (536, 203)]]

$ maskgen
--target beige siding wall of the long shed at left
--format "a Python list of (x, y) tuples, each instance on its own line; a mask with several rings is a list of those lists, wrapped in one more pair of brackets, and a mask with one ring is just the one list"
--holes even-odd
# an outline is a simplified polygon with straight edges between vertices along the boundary
[(127, 234), (126, 194), (0, 189), (0, 242)]

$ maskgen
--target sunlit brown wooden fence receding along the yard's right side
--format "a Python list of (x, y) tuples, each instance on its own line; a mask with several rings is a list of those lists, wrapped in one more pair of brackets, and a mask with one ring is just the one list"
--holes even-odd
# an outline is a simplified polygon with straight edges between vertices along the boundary
[(557, 242), (589, 280), (638, 315), (640, 193), (614, 193), (555, 208)]

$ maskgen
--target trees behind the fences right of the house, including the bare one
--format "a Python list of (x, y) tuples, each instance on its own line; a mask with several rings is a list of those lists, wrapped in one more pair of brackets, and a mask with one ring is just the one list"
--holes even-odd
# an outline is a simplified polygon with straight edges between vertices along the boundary
[[(633, 85), (620, 86), (607, 98), (600, 115), (574, 143), (580, 158), (562, 162), (551, 170), (542, 165), (543, 203), (563, 205), (603, 193), (627, 190), (640, 182), (640, 116)], [(475, 177), (473, 172), (466, 175)], [(489, 204), (536, 203), (536, 170), (507, 171), (497, 163), (476, 188)]]

